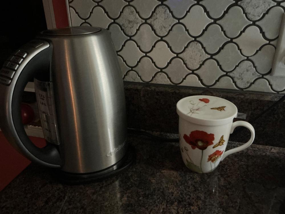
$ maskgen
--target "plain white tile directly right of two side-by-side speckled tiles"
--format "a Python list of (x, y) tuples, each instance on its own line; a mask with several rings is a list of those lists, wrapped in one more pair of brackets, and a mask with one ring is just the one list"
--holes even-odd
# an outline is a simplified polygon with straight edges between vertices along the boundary
[(213, 20), (207, 17), (203, 7), (199, 5), (192, 7), (189, 13), (187, 13), (186, 17), (180, 20), (180, 22), (187, 27), (187, 30), (192, 36), (200, 35), (207, 24), (211, 23), (212, 21)]

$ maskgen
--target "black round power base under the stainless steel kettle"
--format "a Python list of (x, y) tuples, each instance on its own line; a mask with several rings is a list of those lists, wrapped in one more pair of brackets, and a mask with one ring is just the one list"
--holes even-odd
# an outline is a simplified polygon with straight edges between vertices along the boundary
[(129, 146), (125, 156), (114, 165), (91, 173), (68, 173), (61, 170), (54, 171), (54, 175), (61, 183), (70, 185), (77, 185), (83, 183), (90, 183), (95, 181), (102, 181), (109, 177), (113, 177), (123, 171), (125, 171), (135, 160), (135, 149)]

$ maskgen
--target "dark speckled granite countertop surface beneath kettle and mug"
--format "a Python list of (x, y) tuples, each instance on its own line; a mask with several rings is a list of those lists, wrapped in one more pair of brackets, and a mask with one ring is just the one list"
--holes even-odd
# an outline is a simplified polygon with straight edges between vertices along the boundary
[(64, 185), (29, 165), (0, 192), (0, 213), (285, 213), (284, 148), (252, 145), (199, 174), (185, 167), (178, 143), (128, 140), (136, 162), (105, 181)]

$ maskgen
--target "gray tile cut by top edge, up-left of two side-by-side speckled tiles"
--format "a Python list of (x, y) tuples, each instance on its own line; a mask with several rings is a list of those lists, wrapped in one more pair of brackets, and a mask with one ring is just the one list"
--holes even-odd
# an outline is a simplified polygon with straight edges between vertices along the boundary
[(121, 10), (125, 5), (127, 5), (127, 2), (123, 0), (104, 0), (100, 2), (99, 5), (102, 5), (107, 11), (108, 15), (115, 19), (119, 17)]

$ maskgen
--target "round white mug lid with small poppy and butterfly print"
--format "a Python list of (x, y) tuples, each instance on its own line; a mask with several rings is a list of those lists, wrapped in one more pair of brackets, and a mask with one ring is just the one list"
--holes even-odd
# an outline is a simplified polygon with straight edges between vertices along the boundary
[(220, 97), (196, 95), (179, 100), (177, 114), (185, 120), (206, 126), (218, 126), (233, 121), (237, 107)]

